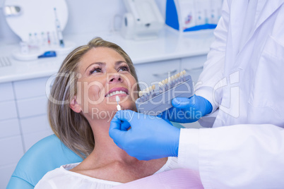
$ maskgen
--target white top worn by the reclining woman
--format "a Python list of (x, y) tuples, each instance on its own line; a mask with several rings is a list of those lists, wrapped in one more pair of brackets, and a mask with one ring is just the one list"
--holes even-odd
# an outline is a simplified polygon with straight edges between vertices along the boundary
[[(93, 178), (90, 176), (85, 176), (80, 173), (75, 173), (69, 171), (74, 167), (78, 166), (80, 163), (76, 164), (66, 164), (60, 166), (60, 168), (49, 171), (42, 177), (42, 179), (35, 185), (35, 189), (56, 189), (56, 188), (112, 188), (116, 185), (122, 183), (114, 181), (105, 181), (99, 178)], [(179, 169), (181, 166), (177, 164), (176, 157), (169, 157), (167, 162), (161, 169), (156, 173), (161, 173), (163, 171), (170, 171), (172, 169)]]

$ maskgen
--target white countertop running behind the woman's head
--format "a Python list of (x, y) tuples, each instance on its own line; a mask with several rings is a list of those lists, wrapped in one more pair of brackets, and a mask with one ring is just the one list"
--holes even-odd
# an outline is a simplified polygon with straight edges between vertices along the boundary
[[(134, 64), (180, 59), (189, 56), (207, 54), (213, 42), (213, 30), (203, 30), (187, 34), (179, 34), (171, 30), (163, 30), (157, 39), (134, 41), (124, 39), (119, 33), (100, 33), (64, 36), (64, 40), (75, 42), (76, 47), (87, 44), (93, 37), (102, 37), (119, 44), (131, 57)], [(18, 44), (0, 44), (0, 61), (9, 59), (10, 65), (1, 66), (0, 83), (16, 80), (41, 78), (57, 73), (66, 55), (54, 58), (37, 59), (35, 61), (17, 61), (12, 51)]]

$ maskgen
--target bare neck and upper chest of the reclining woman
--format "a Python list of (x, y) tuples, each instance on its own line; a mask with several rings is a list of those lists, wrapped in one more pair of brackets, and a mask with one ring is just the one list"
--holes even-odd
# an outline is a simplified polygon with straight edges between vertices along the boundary
[(71, 171), (107, 181), (126, 183), (152, 175), (167, 162), (167, 158), (139, 161), (117, 147), (110, 138), (110, 123), (100, 120), (90, 125), (94, 133), (95, 148)]

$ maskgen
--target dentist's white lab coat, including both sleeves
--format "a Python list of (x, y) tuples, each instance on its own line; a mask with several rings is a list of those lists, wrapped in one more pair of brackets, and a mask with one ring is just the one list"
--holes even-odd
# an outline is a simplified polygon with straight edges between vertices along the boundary
[(224, 0), (196, 94), (215, 121), (181, 130), (179, 162), (205, 188), (284, 188), (283, 0)]

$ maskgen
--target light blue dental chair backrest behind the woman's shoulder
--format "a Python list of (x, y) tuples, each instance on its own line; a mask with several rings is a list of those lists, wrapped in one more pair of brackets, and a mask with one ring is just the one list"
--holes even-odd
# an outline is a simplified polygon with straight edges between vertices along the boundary
[(56, 135), (49, 135), (35, 143), (18, 162), (6, 189), (35, 188), (45, 173), (64, 164), (82, 161), (81, 157), (64, 145)]

